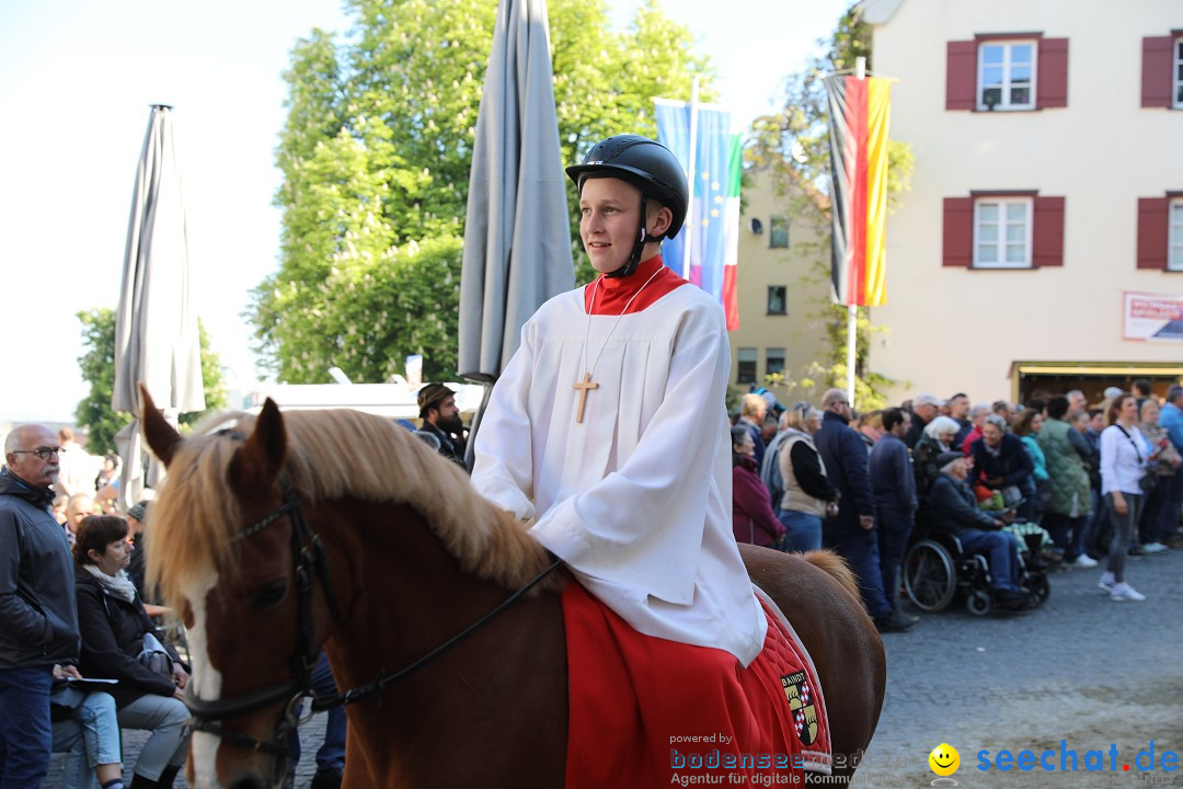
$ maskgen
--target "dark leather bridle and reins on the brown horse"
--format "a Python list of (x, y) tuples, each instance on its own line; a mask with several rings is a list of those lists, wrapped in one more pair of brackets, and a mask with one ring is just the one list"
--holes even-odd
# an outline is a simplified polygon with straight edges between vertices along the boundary
[[(233, 434), (233, 436), (240, 438), (240, 434)], [(232, 542), (248, 539), (284, 517), (291, 522), (292, 571), (296, 577), (297, 593), (297, 628), (296, 641), (292, 645), (290, 659), (291, 674), (287, 679), (267, 685), (266, 687), (226, 699), (201, 699), (194, 692), (193, 685), (188, 686), (185, 694), (185, 705), (193, 716), (190, 726), (194, 731), (214, 735), (237, 748), (269, 754), (273, 757), (273, 775), (271, 776), (273, 784), (279, 783), (284, 777), (283, 774), (286, 771), (286, 761), (290, 751), (287, 733), (299, 725), (299, 710), (305, 696), (312, 697), (312, 711), (321, 712), (335, 706), (356, 704), (371, 696), (381, 694), (392, 683), (396, 683), (427, 665), (487, 625), (493, 617), (521, 600), (530, 589), (542, 582), (543, 578), (557, 570), (563, 563), (562, 560), (554, 558), (542, 573), (524, 587), (513, 591), (479, 620), (393, 674), (387, 673), (383, 668), (374, 678), (374, 681), (368, 685), (361, 685), (334, 696), (316, 696), (312, 692), (312, 670), (316, 667), (319, 647), (316, 642), (316, 622), (312, 619), (312, 593), (317, 578), (319, 578), (321, 586), (324, 588), (324, 595), (329, 609), (332, 612), (334, 620), (341, 619), (341, 612), (334, 591), (332, 580), (329, 575), (329, 562), (324, 543), (304, 518), (304, 512), (300, 509), (300, 499), (296, 496), (296, 490), (291, 480), (284, 473), (279, 474), (279, 489), (283, 493), (279, 507), (246, 528), (241, 533), (234, 536)], [(256, 739), (250, 735), (226, 729), (219, 723), (230, 718), (239, 718), (252, 712), (258, 712), (285, 699), (286, 704), (284, 705), (283, 718), (276, 726), (270, 739)]]

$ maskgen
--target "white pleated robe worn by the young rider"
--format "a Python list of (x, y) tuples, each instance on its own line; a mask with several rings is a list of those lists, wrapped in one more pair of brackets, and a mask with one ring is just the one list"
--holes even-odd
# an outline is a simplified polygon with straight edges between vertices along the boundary
[[(683, 285), (633, 315), (583, 290), (530, 318), (477, 433), (472, 484), (531, 522), (583, 586), (647, 635), (726, 649), (767, 629), (731, 532), (731, 370), (723, 310)], [(573, 388), (595, 366), (582, 423)]]

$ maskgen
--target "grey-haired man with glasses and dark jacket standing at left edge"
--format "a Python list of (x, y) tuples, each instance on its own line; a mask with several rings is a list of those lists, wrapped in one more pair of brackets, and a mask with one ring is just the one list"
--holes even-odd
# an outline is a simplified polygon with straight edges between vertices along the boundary
[[(57, 438), (21, 425), (0, 470), (0, 789), (38, 787), (50, 768), (54, 664), (78, 658), (73, 562), (50, 513)], [(65, 672), (78, 677), (69, 666)]]

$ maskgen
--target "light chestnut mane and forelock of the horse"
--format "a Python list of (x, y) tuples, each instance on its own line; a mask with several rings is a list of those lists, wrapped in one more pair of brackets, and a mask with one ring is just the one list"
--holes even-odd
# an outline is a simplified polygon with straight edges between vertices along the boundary
[[(550, 560), (517, 518), (472, 490), (467, 476), (411, 431), (347, 409), (283, 414), (287, 454), (283, 471), (309, 504), (340, 498), (403, 503), (429, 525), (466, 573), (522, 587)], [(219, 414), (185, 438), (153, 504), (149, 529), (168, 550), (148, 555), (148, 575), (170, 603), (209, 568), (231, 568), (247, 526), (228, 470), (254, 416)], [(228, 428), (230, 432), (227, 432)], [(215, 432), (216, 431), (216, 432)], [(556, 588), (557, 576), (547, 580)]]

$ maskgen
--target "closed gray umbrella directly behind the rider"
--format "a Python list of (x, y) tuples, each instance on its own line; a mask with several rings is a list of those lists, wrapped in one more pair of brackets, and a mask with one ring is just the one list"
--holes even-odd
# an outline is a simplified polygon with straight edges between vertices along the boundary
[[(459, 373), (487, 388), (522, 324), (575, 286), (545, 0), (500, 0), (477, 116), (460, 274)], [(483, 407), (481, 407), (483, 410)], [(479, 427), (479, 413), (478, 413)], [(468, 442), (470, 457), (472, 441)]]

